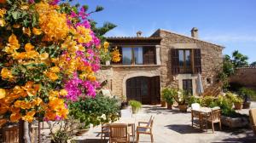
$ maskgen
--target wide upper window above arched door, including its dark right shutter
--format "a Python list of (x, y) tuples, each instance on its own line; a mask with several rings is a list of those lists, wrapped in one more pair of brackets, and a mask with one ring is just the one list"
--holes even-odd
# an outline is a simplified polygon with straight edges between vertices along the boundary
[(122, 60), (118, 64), (123, 65), (154, 65), (154, 47), (119, 47)]

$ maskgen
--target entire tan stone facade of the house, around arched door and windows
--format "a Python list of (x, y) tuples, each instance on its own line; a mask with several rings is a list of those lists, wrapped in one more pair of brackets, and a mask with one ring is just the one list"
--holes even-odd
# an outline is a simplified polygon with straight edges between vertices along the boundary
[(119, 95), (125, 100), (125, 82), (128, 78), (160, 76), (161, 89), (166, 86), (182, 89), (183, 79), (192, 79), (193, 93), (197, 95), (197, 74), (172, 75), (171, 49), (201, 49), (203, 87), (207, 88), (216, 83), (218, 72), (222, 70), (222, 46), (166, 30), (157, 30), (151, 37), (162, 38), (160, 44), (155, 45), (156, 65), (102, 66), (98, 77), (101, 80), (108, 80), (107, 88), (111, 89), (112, 94)]

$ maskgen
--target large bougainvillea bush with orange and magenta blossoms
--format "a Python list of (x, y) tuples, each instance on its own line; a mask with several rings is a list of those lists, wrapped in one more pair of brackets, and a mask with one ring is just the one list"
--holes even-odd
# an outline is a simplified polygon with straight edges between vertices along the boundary
[[(5, 121), (61, 120), (94, 97), (99, 51), (87, 7), (58, 0), (0, 0), (0, 114)], [(102, 48), (101, 48), (102, 47)]]

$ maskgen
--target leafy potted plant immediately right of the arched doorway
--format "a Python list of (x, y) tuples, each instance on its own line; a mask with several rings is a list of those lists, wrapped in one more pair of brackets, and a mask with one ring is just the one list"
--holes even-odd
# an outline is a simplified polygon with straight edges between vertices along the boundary
[(172, 109), (172, 105), (175, 101), (173, 97), (177, 94), (177, 89), (166, 88), (166, 89), (163, 89), (161, 93), (162, 93), (163, 99), (167, 103), (167, 109)]

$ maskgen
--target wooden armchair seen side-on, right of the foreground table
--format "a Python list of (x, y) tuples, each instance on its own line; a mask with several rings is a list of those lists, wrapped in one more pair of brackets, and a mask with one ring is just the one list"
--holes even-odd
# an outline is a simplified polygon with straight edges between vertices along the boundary
[[(151, 116), (147, 123), (145, 122), (138, 122), (137, 126), (137, 142), (139, 141), (140, 134), (150, 134), (151, 142), (154, 142), (153, 133), (152, 133), (152, 126), (153, 126), (154, 116)], [(141, 126), (141, 124), (146, 124), (146, 126)]]

